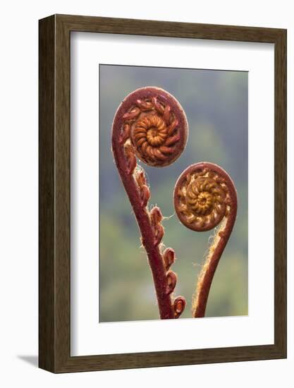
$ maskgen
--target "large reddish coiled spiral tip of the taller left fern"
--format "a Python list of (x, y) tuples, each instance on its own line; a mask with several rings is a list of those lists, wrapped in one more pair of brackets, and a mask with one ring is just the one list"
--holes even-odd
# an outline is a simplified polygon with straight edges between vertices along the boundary
[(178, 101), (165, 90), (143, 87), (124, 103), (122, 138), (130, 138), (135, 155), (149, 166), (173, 163), (185, 148), (188, 122)]

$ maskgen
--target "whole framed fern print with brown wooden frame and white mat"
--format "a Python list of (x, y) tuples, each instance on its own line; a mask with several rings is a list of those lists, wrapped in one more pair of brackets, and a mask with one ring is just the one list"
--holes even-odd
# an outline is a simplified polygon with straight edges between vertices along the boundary
[(39, 20), (39, 367), (286, 358), (286, 30)]

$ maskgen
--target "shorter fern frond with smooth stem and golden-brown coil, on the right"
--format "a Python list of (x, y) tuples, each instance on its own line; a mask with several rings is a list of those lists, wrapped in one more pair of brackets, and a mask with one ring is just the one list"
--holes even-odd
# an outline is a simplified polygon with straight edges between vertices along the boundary
[(189, 229), (209, 231), (219, 225), (200, 272), (192, 306), (194, 317), (204, 317), (214, 273), (235, 224), (237, 191), (220, 166), (201, 162), (183, 171), (173, 199), (180, 222)]

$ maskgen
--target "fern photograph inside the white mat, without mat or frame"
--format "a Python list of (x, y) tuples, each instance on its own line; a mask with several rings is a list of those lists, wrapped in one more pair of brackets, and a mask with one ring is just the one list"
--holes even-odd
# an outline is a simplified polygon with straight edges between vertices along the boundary
[(248, 72), (100, 63), (99, 322), (247, 315), (247, 248)]

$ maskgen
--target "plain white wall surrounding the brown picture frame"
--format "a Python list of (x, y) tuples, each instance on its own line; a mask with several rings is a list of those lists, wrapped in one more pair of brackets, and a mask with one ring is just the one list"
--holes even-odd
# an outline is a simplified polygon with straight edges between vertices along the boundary
[[(0, 45), (0, 384), (2, 387), (293, 386), (294, 231), (288, 200), (288, 360), (52, 375), (37, 365), (38, 19), (52, 13), (288, 28), (288, 198), (294, 196), (291, 1), (6, 1)], [(4, 381), (5, 380), (5, 381)], [(3, 384), (4, 383), (4, 384)]]

